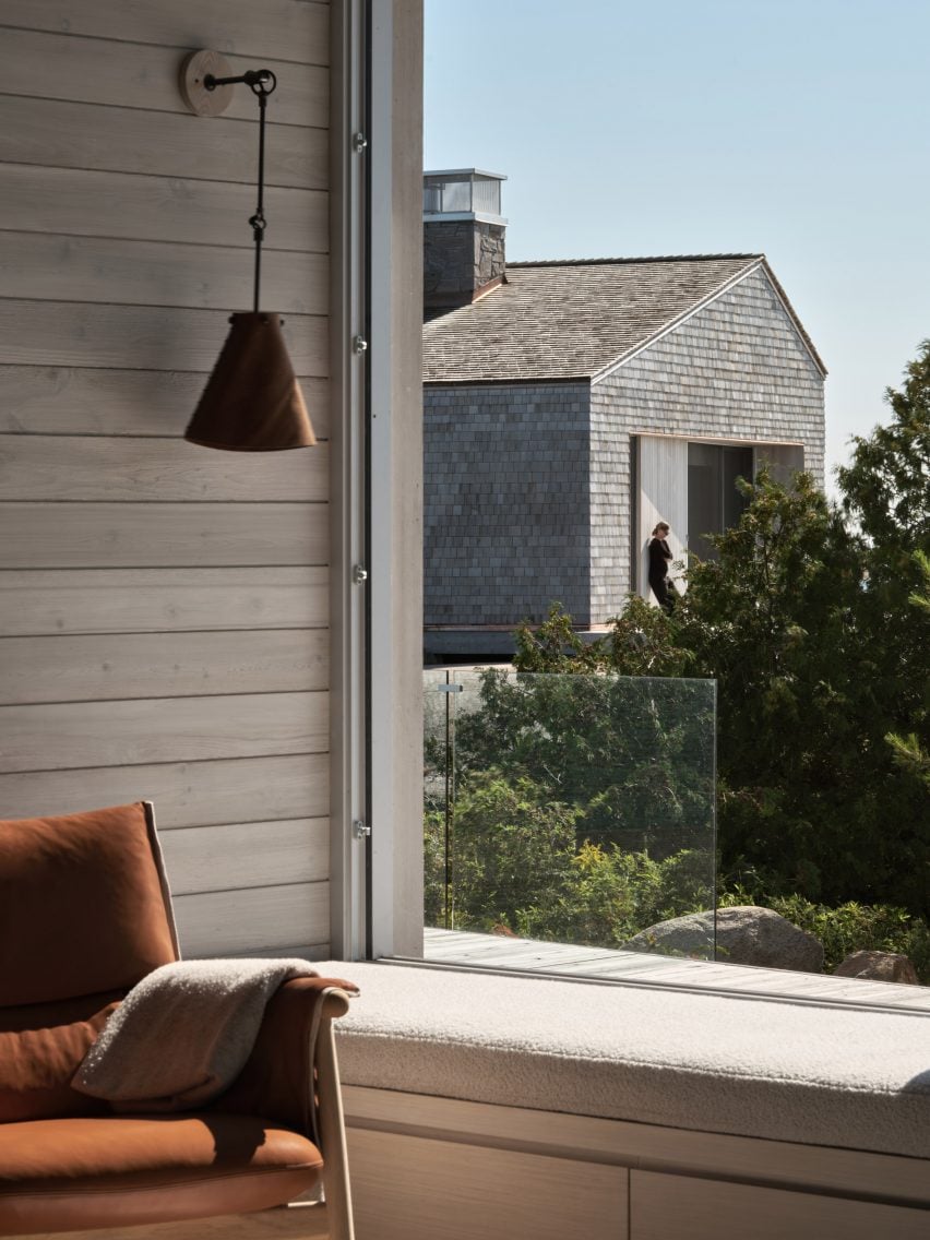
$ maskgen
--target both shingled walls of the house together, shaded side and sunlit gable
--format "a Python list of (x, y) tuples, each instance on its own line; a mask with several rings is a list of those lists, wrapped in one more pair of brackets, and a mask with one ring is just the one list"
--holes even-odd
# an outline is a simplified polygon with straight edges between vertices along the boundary
[(637, 434), (801, 443), (823, 482), (823, 377), (761, 268), (593, 386), (424, 389), (424, 622), (622, 608)]

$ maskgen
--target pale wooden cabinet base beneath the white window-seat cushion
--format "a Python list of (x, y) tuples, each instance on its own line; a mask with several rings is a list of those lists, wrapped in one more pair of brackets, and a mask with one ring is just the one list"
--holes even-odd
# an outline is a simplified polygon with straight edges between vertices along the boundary
[(358, 1240), (930, 1240), (923, 1158), (343, 1096)]

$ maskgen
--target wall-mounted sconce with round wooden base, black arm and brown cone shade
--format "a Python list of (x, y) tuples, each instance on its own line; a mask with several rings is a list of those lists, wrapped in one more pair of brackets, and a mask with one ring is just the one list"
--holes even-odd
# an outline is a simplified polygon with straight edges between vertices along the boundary
[(192, 52), (181, 66), (181, 94), (198, 117), (218, 117), (224, 112), (238, 84), (249, 87), (259, 109), (258, 206), (249, 218), (255, 244), (252, 310), (229, 319), (229, 335), (184, 438), (205, 448), (231, 451), (310, 448), (316, 438), (284, 345), (283, 320), (259, 308), (265, 231), (265, 108), (278, 82), (270, 69), (249, 69), (234, 77), (217, 52)]

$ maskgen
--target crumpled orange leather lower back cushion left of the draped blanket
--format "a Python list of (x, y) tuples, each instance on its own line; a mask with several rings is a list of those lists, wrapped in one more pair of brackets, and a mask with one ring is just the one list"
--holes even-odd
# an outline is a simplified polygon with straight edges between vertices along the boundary
[(120, 994), (0, 1008), (0, 1123), (66, 1115), (109, 1115), (71, 1079)]

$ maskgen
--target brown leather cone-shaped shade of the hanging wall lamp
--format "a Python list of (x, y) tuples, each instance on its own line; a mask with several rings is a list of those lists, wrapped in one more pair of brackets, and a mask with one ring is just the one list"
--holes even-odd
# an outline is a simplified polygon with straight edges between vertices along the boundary
[(234, 314), (185, 439), (267, 453), (316, 443), (277, 314)]

